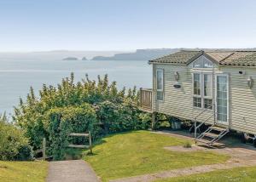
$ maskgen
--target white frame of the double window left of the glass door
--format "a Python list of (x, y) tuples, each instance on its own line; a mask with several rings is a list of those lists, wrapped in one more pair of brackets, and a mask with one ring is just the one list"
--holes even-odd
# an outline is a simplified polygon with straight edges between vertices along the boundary
[[(195, 82), (194, 82), (194, 75), (195, 74), (199, 74), (201, 79), (201, 94), (195, 94)], [(205, 96), (205, 75), (210, 75), (210, 85), (211, 85), (211, 95), (210, 96)], [(213, 86), (212, 86), (212, 82), (213, 82), (213, 75), (212, 75), (212, 71), (193, 71), (192, 72), (192, 94), (193, 94), (193, 99), (192, 99), (192, 105), (193, 108), (195, 109), (206, 109), (206, 110), (213, 110)], [(197, 107), (194, 105), (194, 98), (201, 98), (201, 107)], [(207, 100), (212, 100), (212, 108), (205, 108), (205, 99)]]

